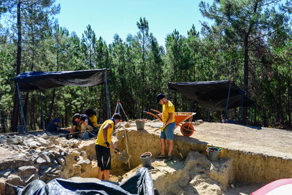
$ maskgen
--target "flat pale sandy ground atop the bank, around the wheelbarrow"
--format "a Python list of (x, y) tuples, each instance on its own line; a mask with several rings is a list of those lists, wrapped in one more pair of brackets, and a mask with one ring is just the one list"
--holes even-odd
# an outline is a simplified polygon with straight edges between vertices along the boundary
[[(152, 127), (159, 127), (162, 123), (152, 121), (147, 121), (145, 130), (160, 134), (157, 128)], [(196, 141), (232, 150), (292, 159), (292, 132), (288, 130), (207, 122), (194, 125), (194, 127), (195, 132), (190, 137)], [(182, 137), (180, 127), (175, 129), (175, 134)], [(182, 139), (189, 138), (182, 137)]]

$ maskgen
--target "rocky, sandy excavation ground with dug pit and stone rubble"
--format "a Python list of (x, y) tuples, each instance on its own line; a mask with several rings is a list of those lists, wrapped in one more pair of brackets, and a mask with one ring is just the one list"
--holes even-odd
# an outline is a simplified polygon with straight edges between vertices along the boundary
[[(180, 127), (175, 129), (174, 159), (163, 162), (155, 158), (160, 153), (161, 122), (144, 122), (143, 129), (131, 120), (115, 126), (112, 141), (131, 155), (125, 164), (111, 151), (109, 180), (116, 185), (134, 176), (145, 158), (156, 194), (251, 194), (268, 182), (292, 176), (289, 131), (197, 120), (190, 137), (183, 136)], [(2, 134), (0, 143), (1, 194), (15, 194), (14, 186), (34, 180), (100, 182), (95, 139), (67, 140), (34, 132)], [(208, 147), (220, 148), (220, 155), (211, 159)]]

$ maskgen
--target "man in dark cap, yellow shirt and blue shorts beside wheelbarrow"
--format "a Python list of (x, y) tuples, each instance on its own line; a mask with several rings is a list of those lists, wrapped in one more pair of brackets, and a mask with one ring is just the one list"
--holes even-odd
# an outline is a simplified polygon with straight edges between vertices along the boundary
[[(175, 131), (175, 106), (165, 98), (163, 93), (159, 93), (156, 96), (156, 103), (162, 105), (162, 122), (160, 134), (160, 148), (161, 153), (156, 155), (156, 158), (163, 158), (164, 162), (168, 162), (173, 159), (172, 150), (175, 146), (173, 143), (173, 132)], [(165, 140), (168, 141), (168, 156), (165, 155)]]

